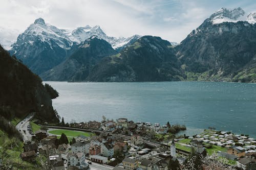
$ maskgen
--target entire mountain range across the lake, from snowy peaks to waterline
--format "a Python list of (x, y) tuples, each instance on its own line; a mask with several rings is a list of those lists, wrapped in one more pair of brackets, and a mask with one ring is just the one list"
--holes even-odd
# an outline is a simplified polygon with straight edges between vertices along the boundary
[(256, 13), (221, 8), (180, 44), (61, 30), (38, 18), (9, 51), (44, 80), (256, 82)]

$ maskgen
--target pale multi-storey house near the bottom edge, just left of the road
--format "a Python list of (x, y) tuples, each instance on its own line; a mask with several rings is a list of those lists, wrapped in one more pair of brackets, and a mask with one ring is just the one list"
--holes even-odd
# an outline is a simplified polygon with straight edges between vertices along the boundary
[(68, 159), (68, 167), (76, 166), (79, 169), (85, 169), (89, 167), (89, 165), (86, 163), (86, 156), (82, 152), (76, 152), (76, 153), (70, 152), (67, 155), (67, 159)]

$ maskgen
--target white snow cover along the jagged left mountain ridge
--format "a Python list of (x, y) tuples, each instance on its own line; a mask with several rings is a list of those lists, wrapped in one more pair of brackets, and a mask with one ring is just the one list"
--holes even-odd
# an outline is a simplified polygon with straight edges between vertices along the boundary
[(17, 42), (14, 45), (20, 45), (22, 43), (33, 44), (35, 39), (37, 40), (39, 38), (42, 42), (47, 42), (49, 45), (54, 41), (61, 48), (70, 49), (74, 43), (79, 44), (94, 35), (109, 42), (114, 49), (128, 44), (134, 38), (137, 40), (141, 37), (138, 35), (129, 38), (109, 37), (99, 26), (78, 27), (75, 30), (58, 29), (55, 26), (45, 23), (44, 19), (38, 18), (24, 33), (18, 36)]

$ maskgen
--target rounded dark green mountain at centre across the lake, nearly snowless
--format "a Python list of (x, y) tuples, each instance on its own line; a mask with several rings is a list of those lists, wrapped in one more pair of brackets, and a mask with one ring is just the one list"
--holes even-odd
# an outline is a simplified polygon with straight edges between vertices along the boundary
[(173, 46), (160, 37), (143, 36), (119, 54), (103, 58), (87, 81), (179, 81), (182, 73)]

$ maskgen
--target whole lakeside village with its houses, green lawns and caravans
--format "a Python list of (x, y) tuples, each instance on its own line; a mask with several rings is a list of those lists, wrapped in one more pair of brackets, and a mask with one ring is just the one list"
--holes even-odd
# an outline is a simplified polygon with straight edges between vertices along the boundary
[(216, 155), (229, 169), (255, 169), (256, 164), (256, 140), (228, 131), (176, 136), (186, 128), (104, 117), (101, 122), (71, 124), (62, 119), (58, 126), (31, 123), (31, 139), (24, 142), (20, 157), (30, 162), (40, 157), (47, 169), (168, 170), (186, 164), (191, 154), (202, 159)]

